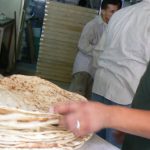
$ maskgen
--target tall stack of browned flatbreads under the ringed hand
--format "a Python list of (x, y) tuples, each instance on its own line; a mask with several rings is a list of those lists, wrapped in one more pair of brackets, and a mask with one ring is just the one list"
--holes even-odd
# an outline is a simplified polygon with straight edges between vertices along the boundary
[(48, 113), (50, 106), (71, 100), (86, 99), (35, 76), (0, 79), (0, 148), (72, 150), (82, 146), (90, 135), (75, 137), (58, 126), (59, 114)]

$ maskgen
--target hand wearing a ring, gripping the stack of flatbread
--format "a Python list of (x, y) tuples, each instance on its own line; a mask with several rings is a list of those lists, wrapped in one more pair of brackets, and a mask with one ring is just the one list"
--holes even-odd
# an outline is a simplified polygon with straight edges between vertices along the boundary
[(60, 125), (76, 136), (84, 136), (107, 126), (108, 109), (98, 102), (73, 102), (56, 105), (54, 112), (63, 115)]

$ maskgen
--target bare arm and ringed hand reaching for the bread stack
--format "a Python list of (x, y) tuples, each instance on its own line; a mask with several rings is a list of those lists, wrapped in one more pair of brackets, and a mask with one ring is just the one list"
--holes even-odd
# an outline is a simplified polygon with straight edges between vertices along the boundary
[[(61, 124), (77, 136), (102, 128), (114, 128), (150, 138), (150, 111), (107, 106), (97, 102), (62, 104), (54, 110), (64, 115)], [(80, 121), (80, 129), (76, 128), (77, 120)]]

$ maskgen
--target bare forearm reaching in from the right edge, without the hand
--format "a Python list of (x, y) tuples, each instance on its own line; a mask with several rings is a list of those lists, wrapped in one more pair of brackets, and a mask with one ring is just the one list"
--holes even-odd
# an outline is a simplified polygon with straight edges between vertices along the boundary
[(150, 138), (150, 111), (113, 106), (108, 113), (107, 128)]

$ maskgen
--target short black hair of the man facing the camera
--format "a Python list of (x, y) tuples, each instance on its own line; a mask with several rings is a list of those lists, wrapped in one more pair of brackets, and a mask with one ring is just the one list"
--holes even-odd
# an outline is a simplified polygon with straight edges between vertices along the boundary
[(101, 3), (101, 9), (106, 9), (109, 4), (117, 5), (118, 9), (120, 9), (122, 7), (122, 1), (121, 0), (103, 0)]

